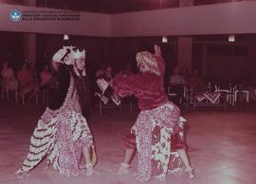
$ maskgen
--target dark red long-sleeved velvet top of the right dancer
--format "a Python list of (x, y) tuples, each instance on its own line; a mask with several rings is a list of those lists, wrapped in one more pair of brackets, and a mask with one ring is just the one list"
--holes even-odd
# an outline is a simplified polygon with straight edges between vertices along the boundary
[(154, 109), (167, 103), (168, 96), (163, 87), (165, 62), (155, 57), (161, 75), (140, 73), (138, 75), (117, 75), (113, 79), (113, 89), (119, 96), (135, 95), (141, 110)]

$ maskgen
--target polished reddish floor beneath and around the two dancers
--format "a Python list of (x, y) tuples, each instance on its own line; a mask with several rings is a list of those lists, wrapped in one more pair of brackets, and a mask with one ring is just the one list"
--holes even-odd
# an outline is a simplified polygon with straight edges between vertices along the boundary
[[(67, 178), (46, 170), (46, 161), (30, 176), (19, 179), (14, 172), (27, 155), (29, 137), (43, 108), (0, 104), (0, 184), (134, 184), (132, 173), (117, 175), (122, 159), (122, 136), (135, 122), (137, 112), (128, 109), (92, 111), (90, 126), (95, 136), (99, 162), (95, 176)], [(256, 183), (256, 110), (197, 109), (186, 110), (190, 122), (189, 154), (196, 177), (168, 174), (165, 181), (152, 179), (147, 183), (163, 184), (254, 184)]]

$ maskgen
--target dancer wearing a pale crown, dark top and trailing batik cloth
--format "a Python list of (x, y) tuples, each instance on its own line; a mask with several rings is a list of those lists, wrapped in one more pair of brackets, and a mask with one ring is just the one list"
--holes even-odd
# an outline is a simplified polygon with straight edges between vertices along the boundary
[(52, 67), (56, 70), (58, 85), (51, 91), (49, 106), (31, 136), (27, 159), (16, 175), (27, 176), (45, 156), (48, 164), (65, 176), (82, 173), (80, 161), (83, 156), (86, 175), (94, 174), (91, 159), (91, 152), (95, 153), (93, 137), (82, 115), (81, 92), (76, 86), (74, 69), (77, 59), (84, 61), (85, 51), (72, 46), (64, 46), (53, 56)]

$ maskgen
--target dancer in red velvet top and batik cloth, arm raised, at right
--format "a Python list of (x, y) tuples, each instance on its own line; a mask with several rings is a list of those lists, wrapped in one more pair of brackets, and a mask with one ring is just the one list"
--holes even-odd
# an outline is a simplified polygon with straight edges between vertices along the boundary
[(179, 125), (182, 125), (184, 120), (180, 118), (179, 109), (168, 100), (164, 91), (165, 62), (161, 56), (160, 47), (155, 45), (155, 55), (147, 51), (137, 53), (137, 67), (140, 74), (118, 75), (110, 83), (121, 97), (135, 95), (141, 110), (137, 122), (131, 129), (136, 138), (132, 134), (126, 138), (128, 147), (125, 150), (119, 173), (129, 171), (129, 162), (137, 147), (136, 176), (138, 181), (147, 181), (152, 176), (163, 179), (167, 174), (171, 159), (176, 163), (171, 163), (170, 166), (179, 167), (184, 163), (186, 171), (193, 176), (184, 147), (177, 147), (179, 154), (171, 158), (173, 157), (171, 135), (177, 138), (174, 142), (178, 145), (181, 142), (178, 135), (182, 135), (180, 132), (182, 128)]

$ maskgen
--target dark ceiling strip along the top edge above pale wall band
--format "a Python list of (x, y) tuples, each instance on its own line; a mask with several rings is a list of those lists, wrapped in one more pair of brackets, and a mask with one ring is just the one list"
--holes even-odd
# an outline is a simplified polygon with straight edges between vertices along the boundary
[[(101, 13), (121, 13), (158, 8), (177, 8), (180, 0), (35, 0), (37, 7), (63, 8)], [(190, 1), (190, 0), (186, 0)], [(208, 5), (243, 0), (192, 0), (193, 5)], [(22, 4), (27, 0), (0, 0), (0, 3)]]

